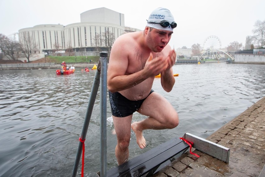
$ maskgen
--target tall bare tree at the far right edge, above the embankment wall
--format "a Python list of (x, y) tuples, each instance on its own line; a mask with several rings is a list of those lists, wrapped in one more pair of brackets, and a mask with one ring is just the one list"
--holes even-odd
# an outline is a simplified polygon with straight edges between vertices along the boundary
[(254, 24), (254, 29), (252, 32), (254, 33), (254, 39), (258, 47), (265, 45), (265, 20), (262, 22), (257, 20)]

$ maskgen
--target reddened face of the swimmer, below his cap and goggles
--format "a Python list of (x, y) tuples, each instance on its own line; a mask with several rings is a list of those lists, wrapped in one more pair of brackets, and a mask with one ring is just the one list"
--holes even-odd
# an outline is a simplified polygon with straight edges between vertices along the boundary
[(170, 41), (173, 31), (150, 28), (146, 35), (146, 43), (153, 52), (161, 52)]

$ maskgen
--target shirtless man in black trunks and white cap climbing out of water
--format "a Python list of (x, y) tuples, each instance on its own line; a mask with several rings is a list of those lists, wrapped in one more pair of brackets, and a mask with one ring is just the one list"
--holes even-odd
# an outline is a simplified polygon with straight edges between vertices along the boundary
[[(119, 165), (129, 157), (131, 128), (143, 149), (146, 147), (143, 130), (174, 128), (179, 124), (173, 106), (151, 89), (159, 73), (165, 91), (170, 92), (175, 83), (172, 66), (176, 53), (167, 44), (176, 26), (171, 12), (160, 7), (151, 13), (144, 31), (119, 36), (112, 46), (107, 83)], [(148, 118), (131, 124), (135, 111)]]

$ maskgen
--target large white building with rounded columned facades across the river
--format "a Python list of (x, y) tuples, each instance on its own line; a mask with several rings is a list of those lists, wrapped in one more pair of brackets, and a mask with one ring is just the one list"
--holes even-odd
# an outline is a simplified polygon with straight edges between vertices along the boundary
[[(30, 36), (33, 45), (39, 51), (35, 53), (50, 52), (54, 50), (96, 51), (95, 36), (106, 31), (113, 33), (114, 40), (124, 33), (141, 31), (136, 28), (124, 26), (124, 14), (105, 7), (88, 10), (80, 14), (80, 23), (63, 25), (36, 25), (19, 30), (19, 41), (24, 36)], [(101, 40), (100, 40), (101, 41)], [(101, 47), (106, 47), (104, 43)]]

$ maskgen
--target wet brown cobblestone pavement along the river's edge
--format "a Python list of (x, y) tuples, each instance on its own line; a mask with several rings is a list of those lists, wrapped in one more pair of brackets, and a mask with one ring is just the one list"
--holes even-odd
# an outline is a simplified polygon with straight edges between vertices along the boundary
[(194, 150), (152, 177), (265, 177), (265, 97), (207, 140), (230, 148), (229, 163)]

